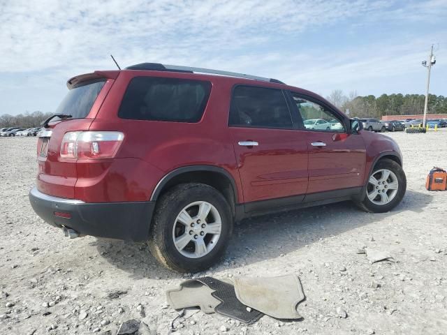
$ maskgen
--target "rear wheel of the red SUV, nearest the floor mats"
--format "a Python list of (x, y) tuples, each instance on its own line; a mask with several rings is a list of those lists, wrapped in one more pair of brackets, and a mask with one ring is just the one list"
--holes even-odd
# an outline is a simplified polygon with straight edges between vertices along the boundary
[[(205, 207), (211, 205), (210, 214), (203, 220), (205, 228), (203, 228), (205, 226), (203, 221), (196, 220), (201, 208), (200, 204), (196, 203), (205, 203), (207, 204)], [(188, 216), (184, 216), (185, 212)], [(188, 224), (179, 221), (181, 213)], [(201, 238), (200, 234), (212, 226), (210, 221), (214, 221), (214, 225), (216, 225), (219, 222), (219, 217), (220, 232), (217, 234), (204, 233), (204, 237)], [(198, 231), (201, 229), (203, 231)], [(215, 226), (214, 229), (216, 229)], [(221, 258), (232, 232), (233, 216), (230, 205), (219, 191), (205, 184), (179, 184), (163, 194), (157, 201), (149, 234), (149, 250), (154, 258), (168, 269), (179, 272), (203, 271)], [(181, 250), (177, 248), (181, 244), (179, 237), (184, 237), (184, 240), (188, 241), (183, 248), (179, 246), (182, 248)], [(177, 246), (175, 238), (177, 238)], [(201, 245), (205, 245), (206, 251), (203, 249), (200, 251), (197, 248), (200, 241), (203, 241)], [(200, 256), (200, 253), (204, 255)]]

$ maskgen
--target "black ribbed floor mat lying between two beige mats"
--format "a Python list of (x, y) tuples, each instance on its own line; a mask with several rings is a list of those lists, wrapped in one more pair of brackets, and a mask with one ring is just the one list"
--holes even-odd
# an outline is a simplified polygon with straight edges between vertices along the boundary
[(228, 318), (233, 318), (250, 325), (253, 322), (258, 321), (264, 314), (255, 309), (247, 311), (247, 306), (242, 304), (236, 297), (235, 288), (233, 285), (219, 281), (212, 277), (198, 278), (197, 281), (204, 283), (209, 288), (214, 290), (212, 296), (222, 301), (214, 311), (219, 314), (225, 315)]

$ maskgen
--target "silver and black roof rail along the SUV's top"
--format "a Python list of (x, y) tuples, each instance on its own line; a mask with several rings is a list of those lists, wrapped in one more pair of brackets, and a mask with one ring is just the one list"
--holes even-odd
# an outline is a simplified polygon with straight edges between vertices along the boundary
[(244, 73), (236, 73), (229, 71), (213, 70), (211, 68), (194, 68), (191, 66), (178, 66), (178, 65), (167, 65), (159, 63), (141, 63), (128, 66), (126, 70), (152, 70), (152, 71), (173, 71), (173, 72), (184, 72), (184, 73), (210, 73), (212, 75), (226, 75), (228, 77), (238, 77), (251, 80), (261, 80), (263, 82), (276, 82), (277, 84), (284, 84), (276, 79), (258, 77), (257, 75), (246, 75)]

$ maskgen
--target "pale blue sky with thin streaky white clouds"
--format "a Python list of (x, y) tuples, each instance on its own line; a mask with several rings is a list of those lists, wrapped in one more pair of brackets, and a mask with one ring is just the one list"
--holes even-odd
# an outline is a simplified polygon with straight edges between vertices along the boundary
[(328, 96), (447, 95), (447, 0), (0, 0), (0, 114), (54, 112), (66, 80), (156, 62)]

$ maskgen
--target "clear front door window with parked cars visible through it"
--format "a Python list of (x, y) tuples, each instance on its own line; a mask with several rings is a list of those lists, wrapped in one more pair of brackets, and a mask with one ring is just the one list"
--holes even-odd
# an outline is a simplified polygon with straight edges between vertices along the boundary
[(318, 105), (318, 103), (301, 98), (298, 94), (293, 92), (291, 94), (306, 129), (337, 133), (346, 132), (346, 127), (336, 114)]

